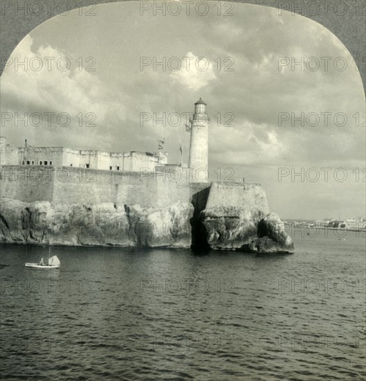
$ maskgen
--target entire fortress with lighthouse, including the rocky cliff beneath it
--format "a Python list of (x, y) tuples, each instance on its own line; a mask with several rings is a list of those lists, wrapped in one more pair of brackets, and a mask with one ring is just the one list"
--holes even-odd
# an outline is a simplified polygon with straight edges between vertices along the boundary
[[(161, 146), (156, 153), (28, 143), (12, 148), (1, 138), (1, 239), (35, 239), (38, 231), (36, 242), (67, 245), (187, 247), (203, 242), (238, 249), (259, 247), (258, 239), (267, 247), (263, 238), (271, 230), (271, 249), (291, 247), (280, 219), (269, 214), (260, 184), (208, 182), (209, 123), (200, 98), (186, 126), (191, 133), (187, 167), (183, 160), (168, 164)], [(160, 236), (141, 238), (141, 224)], [(93, 239), (81, 238), (84, 226), (97, 232)], [(21, 232), (17, 238), (14, 229)], [(73, 232), (73, 239), (65, 241), (62, 229)]]

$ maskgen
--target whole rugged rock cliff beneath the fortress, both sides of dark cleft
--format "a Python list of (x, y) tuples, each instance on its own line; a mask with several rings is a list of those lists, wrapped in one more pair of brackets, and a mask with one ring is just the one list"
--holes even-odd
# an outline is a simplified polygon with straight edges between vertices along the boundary
[[(211, 249), (293, 251), (274, 213), (240, 206), (214, 206), (192, 218), (190, 202), (165, 208), (140, 205), (21, 202), (3, 198), (1, 242), (121, 247), (190, 247), (192, 229)], [(192, 224), (192, 226), (191, 226)]]

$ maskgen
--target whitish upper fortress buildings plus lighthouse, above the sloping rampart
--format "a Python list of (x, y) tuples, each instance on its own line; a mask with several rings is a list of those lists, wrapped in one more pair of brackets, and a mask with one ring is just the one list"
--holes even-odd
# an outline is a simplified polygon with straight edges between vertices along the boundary
[[(208, 124), (206, 104), (200, 98), (194, 104), (194, 114), (187, 130), (191, 132), (188, 168), (190, 179), (208, 181)], [(34, 147), (28, 145), (14, 148), (1, 137), (1, 164), (10, 166), (54, 166), (93, 168), (95, 170), (117, 170), (120, 172), (140, 172), (160, 170), (171, 171), (175, 165), (167, 164), (167, 152), (163, 151), (164, 140), (159, 140), (158, 152), (105, 152), (101, 150), (74, 150), (65, 147)], [(184, 168), (183, 158), (179, 167)], [(33, 171), (34, 172), (34, 171)]]

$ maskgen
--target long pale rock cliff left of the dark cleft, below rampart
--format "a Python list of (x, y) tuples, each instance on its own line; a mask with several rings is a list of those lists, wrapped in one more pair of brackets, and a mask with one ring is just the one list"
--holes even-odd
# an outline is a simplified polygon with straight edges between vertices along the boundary
[(48, 245), (190, 247), (193, 206), (60, 204), (1, 199), (0, 240)]

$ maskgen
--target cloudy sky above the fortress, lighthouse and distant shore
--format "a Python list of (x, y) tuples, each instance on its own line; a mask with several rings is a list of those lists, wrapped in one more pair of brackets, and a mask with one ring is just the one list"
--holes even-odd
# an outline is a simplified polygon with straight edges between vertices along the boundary
[[(152, 10), (140, 15), (136, 3), (102, 4), (93, 13), (80, 16), (75, 10), (54, 17), (12, 53), (13, 62), (1, 77), (1, 112), (6, 113), (1, 135), (8, 143), (20, 146), (28, 139), (38, 146), (155, 152), (157, 139), (165, 133), (169, 161), (179, 162), (183, 140), (187, 162), (183, 113), (192, 112), (202, 97), (211, 118), (212, 179), (217, 168), (221, 180), (223, 170), (232, 168), (233, 179), (262, 183), (271, 211), (282, 218), (365, 216), (365, 96), (351, 55), (326, 28), (300, 15), (238, 3), (232, 16), (218, 16), (213, 5), (205, 16), (194, 8), (190, 16), (184, 8), (177, 16), (154, 15)], [(67, 57), (70, 69), (61, 57)], [(178, 57), (182, 67), (171, 70), (174, 60), (165, 70), (154, 70), (153, 64), (140, 70), (141, 57), (152, 62), (154, 57)], [(188, 71), (183, 57), (191, 57)], [(287, 57), (280, 70), (279, 57)], [(299, 65), (291, 69), (291, 60), (301, 57), (315, 59), (303, 71)], [(15, 65), (25, 58), (27, 70)], [(313, 69), (317, 60), (319, 69)], [(199, 71), (196, 63), (201, 68), (208, 64), (208, 69)], [(69, 114), (69, 125), (62, 126), (64, 117), (60, 123), (49, 117), (48, 123), (48, 112)], [(159, 117), (175, 112), (182, 117), (178, 126), (164, 129), (153, 118), (140, 125), (141, 113)], [(302, 112), (304, 125), (291, 125), (291, 113)], [(39, 123), (35, 114), (28, 125), (16, 123), (15, 117), (6, 121), (15, 113), (40, 113), (44, 120)], [(289, 121), (279, 125), (279, 113), (289, 115)], [(230, 125), (224, 125), (230, 115)], [(88, 121), (95, 126), (86, 125)], [(176, 118), (170, 121), (176, 124)], [(288, 168), (282, 169), (282, 181), (279, 168)], [(300, 176), (291, 181), (291, 172), (301, 168), (304, 181)], [(320, 168), (331, 168), (328, 181)], [(319, 179), (311, 181), (317, 170)]]

